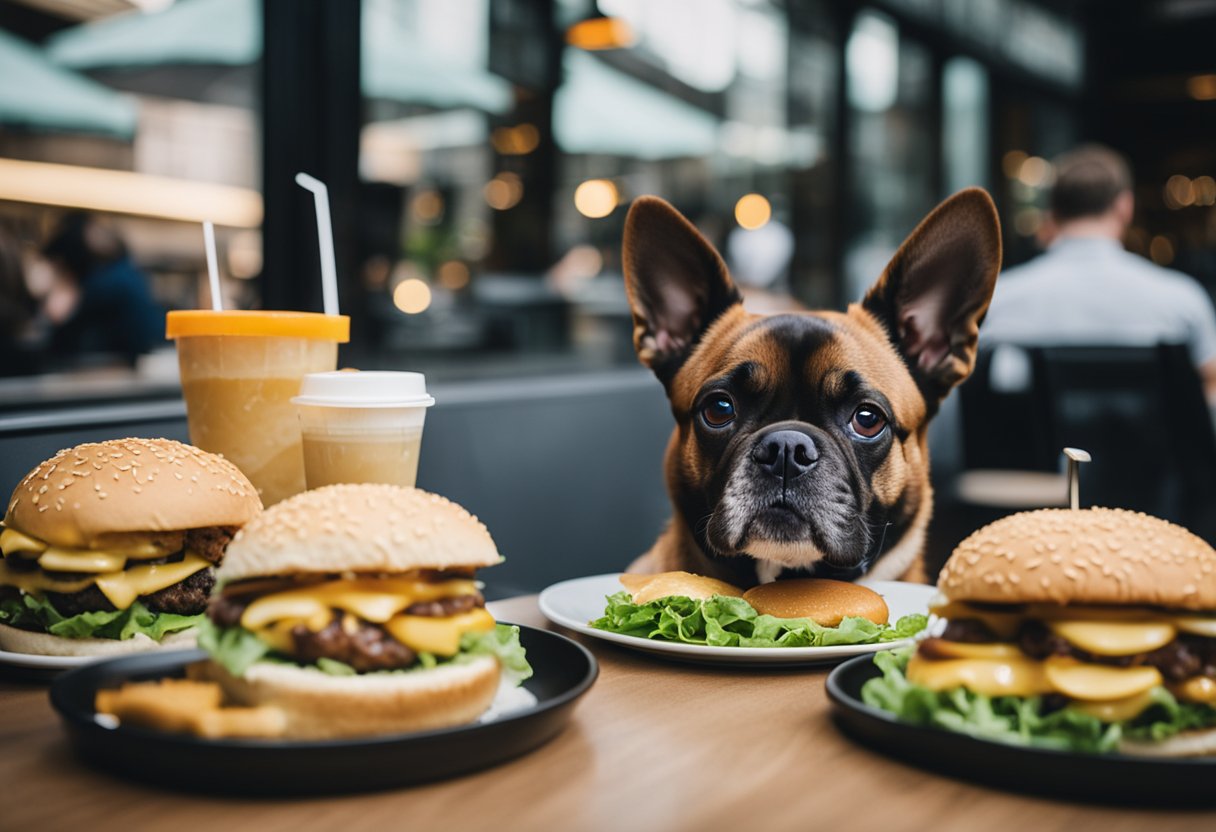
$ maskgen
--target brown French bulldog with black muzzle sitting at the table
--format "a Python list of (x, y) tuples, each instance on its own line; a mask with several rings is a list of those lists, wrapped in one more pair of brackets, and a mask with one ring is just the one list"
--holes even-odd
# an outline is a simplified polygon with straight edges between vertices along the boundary
[(657, 197), (630, 208), (623, 263), (634, 347), (676, 421), (674, 517), (629, 570), (924, 580), (928, 425), (975, 366), (1001, 266), (989, 195), (938, 206), (844, 313), (749, 314), (719, 253)]

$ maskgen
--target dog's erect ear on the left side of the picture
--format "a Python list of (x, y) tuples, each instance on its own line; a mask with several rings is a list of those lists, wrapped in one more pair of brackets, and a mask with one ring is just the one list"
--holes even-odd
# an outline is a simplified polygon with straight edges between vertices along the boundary
[(637, 358), (665, 386), (738, 289), (692, 223), (658, 197), (638, 197), (625, 219), (625, 291)]

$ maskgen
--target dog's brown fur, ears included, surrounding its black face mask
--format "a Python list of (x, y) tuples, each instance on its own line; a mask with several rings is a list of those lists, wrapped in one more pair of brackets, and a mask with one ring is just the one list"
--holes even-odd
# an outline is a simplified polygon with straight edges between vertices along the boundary
[[(872, 472), (868, 496), (878, 510), (894, 507), (889, 528), (897, 538), (868, 575), (924, 580), (922, 549), (933, 511), (928, 423), (974, 369), (979, 325), (1000, 264), (992, 201), (978, 189), (959, 192), (917, 226), (861, 303), (845, 313), (799, 313), (824, 321), (831, 337), (809, 356), (801, 377), (790, 378), (789, 344), (762, 325), (764, 316), (743, 309), (714, 248), (668, 203), (637, 199), (625, 230), (626, 288), (638, 358), (663, 381), (676, 417), (665, 455), (675, 515), (630, 570), (683, 569), (747, 586), (766, 579), (766, 572), (771, 579), (781, 564), (801, 566), (790, 558), (805, 556), (792, 553), (789, 544), (760, 541), (751, 557), (710, 556), (693, 532), (697, 519), (680, 508), (681, 494), (709, 489), (719, 462), (702, 448), (694, 426), (699, 390), (724, 369), (747, 361), (762, 387), (801, 384), (831, 397), (833, 384), (855, 371), (885, 395), (894, 411), (893, 444)], [(902, 435), (894, 435), (895, 426)]]

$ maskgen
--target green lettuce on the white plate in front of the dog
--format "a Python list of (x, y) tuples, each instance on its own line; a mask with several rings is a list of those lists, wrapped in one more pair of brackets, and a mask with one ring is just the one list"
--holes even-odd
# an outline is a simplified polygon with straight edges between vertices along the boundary
[(897, 641), (928, 625), (927, 615), (905, 615), (895, 625), (849, 617), (839, 626), (822, 626), (809, 618), (761, 615), (743, 598), (715, 595), (688, 598), (672, 595), (634, 603), (626, 591), (609, 595), (602, 618), (591, 626), (608, 633), (680, 641), (710, 647), (832, 647)]

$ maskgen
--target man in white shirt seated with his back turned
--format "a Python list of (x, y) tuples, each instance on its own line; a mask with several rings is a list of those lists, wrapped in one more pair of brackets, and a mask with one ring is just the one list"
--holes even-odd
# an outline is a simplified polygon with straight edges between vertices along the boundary
[[(1186, 344), (1216, 406), (1216, 311), (1192, 277), (1124, 249), (1135, 204), (1127, 163), (1087, 145), (1055, 161), (1047, 251), (1001, 275), (987, 345)], [(993, 367), (993, 373), (997, 370)]]

